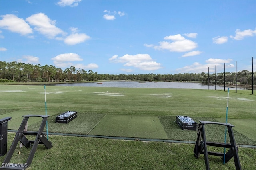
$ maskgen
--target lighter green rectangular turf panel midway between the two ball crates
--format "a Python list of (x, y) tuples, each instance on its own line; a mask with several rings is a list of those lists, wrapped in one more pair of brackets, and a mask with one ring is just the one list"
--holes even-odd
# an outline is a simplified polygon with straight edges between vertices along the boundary
[(168, 139), (158, 116), (106, 115), (89, 135)]

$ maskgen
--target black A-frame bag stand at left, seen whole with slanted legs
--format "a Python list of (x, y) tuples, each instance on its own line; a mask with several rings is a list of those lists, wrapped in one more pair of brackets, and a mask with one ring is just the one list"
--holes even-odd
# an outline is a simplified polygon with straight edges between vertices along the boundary
[[(47, 149), (50, 149), (52, 147), (52, 143), (50, 143), (50, 141), (48, 141), (48, 139), (45, 137), (43, 130), (44, 127), (46, 125), (46, 121), (47, 118), (50, 115), (25, 115), (22, 116), (24, 117), (22, 120), (22, 123), (20, 125), (20, 128), (18, 129), (16, 136), (14, 137), (14, 140), (12, 142), (12, 145), (8, 151), (8, 153), (6, 154), (6, 157), (4, 159), (4, 167), (1, 167), (1, 170), (3, 169), (26, 169), (28, 166), (30, 166), (33, 158), (34, 158), (34, 154), (36, 152), (36, 149), (38, 147), (38, 144), (44, 144), (44, 146)], [(26, 123), (28, 122), (28, 118), (29, 117), (42, 117), (42, 123), (40, 125), (40, 128), (38, 130), (38, 132), (33, 132), (33, 131), (24, 131)], [(34, 135), (36, 136), (36, 139), (34, 141), (29, 141), (25, 135)], [(10, 160), (12, 158), (12, 155), (14, 153), (14, 150), (18, 144), (18, 142), (21, 142), (26, 148), (29, 148), (32, 146), (32, 149), (30, 151), (30, 154), (28, 156), (27, 162), (24, 164), (23, 167), (17, 167), (17, 164), (12, 164), (10, 163)], [(33, 144), (33, 145), (32, 145)], [(15, 167), (13, 167), (13, 165), (15, 165)]]

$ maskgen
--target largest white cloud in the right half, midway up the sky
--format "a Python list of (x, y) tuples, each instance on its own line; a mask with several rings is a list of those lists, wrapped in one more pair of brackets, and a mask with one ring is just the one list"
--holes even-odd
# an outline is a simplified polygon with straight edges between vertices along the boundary
[[(190, 35), (190, 36), (192, 36), (192, 35)], [(185, 37), (183, 37), (180, 34), (166, 36), (166, 37), (164, 37), (164, 40), (170, 40), (173, 42), (161, 41), (161, 42), (159, 42), (159, 45), (144, 44), (144, 46), (153, 47), (154, 49), (157, 49), (157, 50), (169, 50), (171, 52), (192, 51), (193, 49), (198, 47), (196, 42), (186, 39)]]

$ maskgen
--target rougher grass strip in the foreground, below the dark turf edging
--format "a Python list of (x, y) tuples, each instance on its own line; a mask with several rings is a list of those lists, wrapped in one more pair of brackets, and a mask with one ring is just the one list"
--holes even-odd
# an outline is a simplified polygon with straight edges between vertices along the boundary
[[(8, 133), (10, 147), (15, 133)], [(53, 147), (39, 145), (27, 170), (202, 170), (204, 155), (194, 157), (194, 145), (184, 143), (124, 141), (89, 137), (50, 135)], [(212, 149), (223, 152), (223, 149)], [(16, 148), (10, 162), (24, 163), (30, 149)], [(256, 149), (239, 148), (242, 170), (255, 169)], [(4, 156), (0, 157), (1, 162)], [(210, 169), (233, 170), (234, 159), (223, 165), (218, 156), (209, 156)]]

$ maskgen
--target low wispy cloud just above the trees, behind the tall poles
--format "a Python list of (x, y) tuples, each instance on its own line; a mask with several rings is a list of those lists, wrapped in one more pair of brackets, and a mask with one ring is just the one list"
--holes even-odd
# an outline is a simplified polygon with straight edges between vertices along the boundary
[[(182, 68), (176, 69), (176, 71), (180, 73), (186, 73), (186, 72), (194, 72), (194, 73), (200, 73), (200, 72), (208, 72), (208, 68), (210, 72), (215, 71), (215, 66), (219, 69), (224, 68), (224, 63), (230, 63), (232, 59), (208, 59), (205, 61), (204, 64), (201, 64), (199, 62), (194, 62), (192, 65), (184, 66)], [(234, 68), (234, 64), (226, 64), (226, 68)]]

